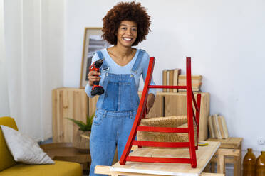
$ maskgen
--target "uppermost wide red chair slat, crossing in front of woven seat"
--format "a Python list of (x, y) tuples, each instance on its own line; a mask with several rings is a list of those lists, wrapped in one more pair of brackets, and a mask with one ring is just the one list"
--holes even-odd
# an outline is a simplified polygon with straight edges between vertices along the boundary
[(169, 127), (153, 127), (153, 126), (138, 126), (137, 131), (150, 131), (160, 133), (188, 133), (188, 128), (169, 128)]

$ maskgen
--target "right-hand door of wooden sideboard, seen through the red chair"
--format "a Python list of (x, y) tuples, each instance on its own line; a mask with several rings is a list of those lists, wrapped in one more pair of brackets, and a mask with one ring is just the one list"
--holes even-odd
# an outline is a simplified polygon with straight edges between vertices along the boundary
[[(165, 116), (187, 115), (187, 98), (185, 93), (163, 92), (165, 96)], [(201, 92), (201, 112), (199, 114), (199, 141), (208, 138), (207, 120), (209, 117), (209, 93)], [(197, 99), (197, 93), (194, 93)]]

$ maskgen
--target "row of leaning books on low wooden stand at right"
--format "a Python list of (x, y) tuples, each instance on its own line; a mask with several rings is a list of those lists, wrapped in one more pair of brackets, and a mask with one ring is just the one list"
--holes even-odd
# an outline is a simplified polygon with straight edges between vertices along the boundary
[(209, 116), (208, 127), (210, 138), (222, 139), (229, 137), (227, 123), (224, 120), (224, 116), (219, 116), (219, 114)]

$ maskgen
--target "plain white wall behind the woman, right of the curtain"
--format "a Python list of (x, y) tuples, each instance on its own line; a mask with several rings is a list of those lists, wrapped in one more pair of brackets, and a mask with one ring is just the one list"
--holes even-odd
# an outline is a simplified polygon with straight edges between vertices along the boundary
[[(79, 87), (85, 27), (102, 26), (118, 1), (66, 1), (64, 86)], [(203, 75), (202, 91), (211, 94), (211, 114), (227, 120), (230, 136), (243, 148), (265, 150), (264, 74), (265, 1), (142, 0), (152, 32), (138, 48), (155, 56), (154, 79), (162, 70), (182, 68), (192, 57), (192, 73)]]

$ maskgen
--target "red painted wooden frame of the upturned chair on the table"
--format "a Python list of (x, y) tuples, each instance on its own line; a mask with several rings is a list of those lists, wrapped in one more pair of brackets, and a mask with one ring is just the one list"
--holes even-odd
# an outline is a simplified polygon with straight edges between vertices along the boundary
[[(197, 126), (197, 138), (199, 138), (199, 111), (201, 103), (201, 94), (197, 94), (197, 101), (194, 98), (192, 92), (192, 73), (191, 73), (191, 58), (186, 57), (186, 86), (161, 86), (161, 85), (150, 85), (152, 79), (152, 71), (155, 65), (155, 57), (150, 57), (150, 62), (148, 66), (147, 76), (145, 79), (145, 87), (142, 91), (142, 97), (140, 104), (137, 109), (137, 114), (135, 116), (135, 121), (133, 123), (132, 130), (130, 131), (130, 136), (123, 150), (123, 155), (120, 158), (120, 165), (125, 165), (126, 161), (134, 162), (147, 162), (147, 163), (190, 163), (192, 167), (197, 167), (197, 158), (195, 150), (198, 149), (198, 145), (195, 146), (194, 143), (194, 126), (193, 118)], [(139, 126), (142, 118), (145, 118), (146, 114), (146, 103), (148, 90), (150, 88), (166, 88), (166, 89), (187, 89), (187, 128), (168, 128), (168, 127), (150, 127), (150, 126)], [(194, 103), (194, 108), (196, 114), (192, 109), (192, 101)], [(160, 132), (160, 133), (188, 133), (188, 142), (155, 142), (155, 141), (137, 141), (135, 136), (137, 131), (150, 131), (150, 132)], [(140, 156), (130, 156), (130, 150), (132, 145), (138, 145), (139, 148), (142, 146), (149, 147), (162, 147), (162, 148), (189, 148), (190, 158), (162, 158), (162, 157), (140, 157)]]

